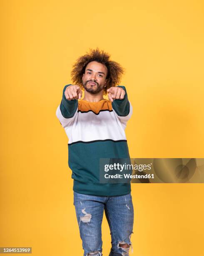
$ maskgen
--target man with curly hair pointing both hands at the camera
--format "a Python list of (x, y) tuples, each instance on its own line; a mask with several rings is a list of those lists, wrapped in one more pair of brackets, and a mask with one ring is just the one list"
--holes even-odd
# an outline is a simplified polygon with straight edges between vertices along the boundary
[[(132, 106), (124, 86), (116, 86), (123, 69), (104, 51), (91, 50), (73, 65), (57, 118), (69, 138), (68, 163), (74, 179), (74, 205), (84, 256), (102, 256), (103, 212), (109, 223), (109, 256), (129, 255), (134, 210), (130, 183), (100, 183), (100, 158), (129, 158), (124, 129)], [(85, 90), (84, 98), (82, 89)], [(108, 93), (109, 100), (103, 98)]]

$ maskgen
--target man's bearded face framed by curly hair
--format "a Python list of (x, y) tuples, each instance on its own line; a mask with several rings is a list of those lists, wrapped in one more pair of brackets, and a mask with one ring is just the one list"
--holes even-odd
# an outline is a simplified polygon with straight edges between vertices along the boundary
[(103, 90), (106, 83), (107, 67), (97, 61), (87, 64), (85, 74), (82, 77), (82, 84), (89, 93), (96, 94)]

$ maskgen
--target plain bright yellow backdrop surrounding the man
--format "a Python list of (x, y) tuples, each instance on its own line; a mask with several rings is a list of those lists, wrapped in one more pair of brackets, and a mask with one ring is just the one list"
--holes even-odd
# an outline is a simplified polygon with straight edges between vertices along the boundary
[[(55, 116), (72, 64), (98, 46), (126, 69), (132, 158), (204, 158), (204, 3), (2, 0), (0, 9), (0, 246), (82, 256)], [(204, 255), (203, 184), (132, 184), (132, 196), (132, 255)], [(107, 256), (105, 218), (102, 239)]]

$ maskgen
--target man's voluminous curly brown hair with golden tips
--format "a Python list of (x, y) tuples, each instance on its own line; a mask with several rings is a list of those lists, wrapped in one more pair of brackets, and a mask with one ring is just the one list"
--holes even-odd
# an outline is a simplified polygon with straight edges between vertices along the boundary
[(87, 54), (80, 56), (75, 64), (72, 66), (71, 78), (74, 84), (80, 85), (80, 88), (83, 90), (82, 84), (82, 75), (85, 73), (86, 66), (91, 61), (97, 61), (101, 64), (104, 64), (107, 67), (107, 83), (104, 87), (103, 94), (107, 94), (107, 89), (114, 87), (119, 84), (122, 74), (124, 73), (124, 68), (117, 63), (116, 61), (110, 60), (110, 54), (100, 51), (97, 49), (90, 49)]

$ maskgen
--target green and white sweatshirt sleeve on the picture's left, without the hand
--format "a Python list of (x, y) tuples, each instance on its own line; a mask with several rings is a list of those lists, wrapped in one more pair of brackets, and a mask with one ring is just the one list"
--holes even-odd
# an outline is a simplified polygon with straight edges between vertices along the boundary
[(57, 118), (60, 120), (63, 128), (72, 124), (72, 121), (75, 119), (78, 110), (78, 100), (67, 100), (65, 97), (65, 90), (70, 85), (72, 84), (65, 85), (62, 92), (61, 103), (56, 110)]

